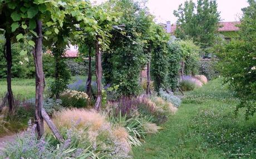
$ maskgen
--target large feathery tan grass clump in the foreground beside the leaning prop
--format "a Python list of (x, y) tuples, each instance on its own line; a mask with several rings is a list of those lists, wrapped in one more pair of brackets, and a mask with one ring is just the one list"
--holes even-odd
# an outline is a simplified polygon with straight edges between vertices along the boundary
[[(99, 158), (130, 157), (131, 146), (127, 131), (123, 127), (116, 128), (106, 120), (104, 114), (95, 110), (65, 109), (55, 112), (52, 120), (62, 136), (67, 136), (72, 131), (72, 136), (75, 137), (71, 141), (78, 148), (82, 148), (81, 145), (91, 145), (90, 151), (97, 153)], [(52, 136), (48, 127), (46, 132), (47, 136)]]

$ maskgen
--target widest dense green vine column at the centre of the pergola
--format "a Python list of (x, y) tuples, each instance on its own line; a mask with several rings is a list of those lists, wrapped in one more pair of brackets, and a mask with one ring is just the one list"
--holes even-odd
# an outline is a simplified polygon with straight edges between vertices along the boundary
[(103, 54), (105, 84), (119, 85), (121, 95), (138, 95), (140, 70), (147, 62), (145, 35), (149, 33), (152, 17), (145, 6), (132, 0), (109, 1), (107, 6), (122, 12), (120, 23), (125, 27), (121, 32), (113, 30), (111, 50)]

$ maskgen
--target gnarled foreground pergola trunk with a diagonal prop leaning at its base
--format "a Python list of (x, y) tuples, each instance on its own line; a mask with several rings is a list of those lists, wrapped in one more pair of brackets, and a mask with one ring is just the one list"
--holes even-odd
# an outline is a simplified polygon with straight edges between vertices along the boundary
[(35, 119), (36, 119), (36, 130), (38, 138), (40, 139), (43, 136), (43, 61), (42, 61), (42, 22), (37, 20), (36, 22), (36, 45), (33, 52), (36, 66), (36, 110), (35, 110)]

